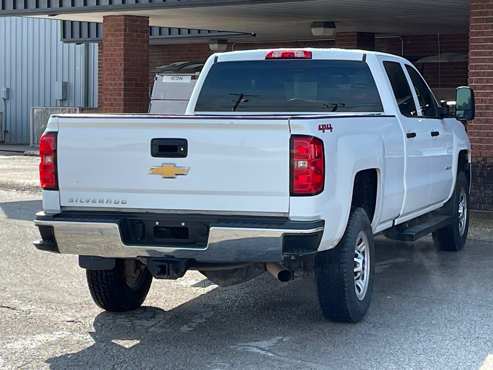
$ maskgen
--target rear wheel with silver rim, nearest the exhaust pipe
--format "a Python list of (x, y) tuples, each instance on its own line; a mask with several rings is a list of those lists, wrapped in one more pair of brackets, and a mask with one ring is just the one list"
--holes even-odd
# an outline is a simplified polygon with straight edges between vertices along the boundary
[(373, 292), (374, 256), (368, 215), (353, 208), (341, 241), (315, 259), (318, 301), (326, 319), (345, 323), (363, 319)]

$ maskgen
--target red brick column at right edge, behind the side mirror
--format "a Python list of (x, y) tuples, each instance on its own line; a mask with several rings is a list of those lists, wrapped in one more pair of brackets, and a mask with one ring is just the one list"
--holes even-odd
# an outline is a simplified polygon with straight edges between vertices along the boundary
[(476, 119), (467, 125), (471, 209), (493, 211), (493, 0), (470, 0), (468, 70), (476, 97)]

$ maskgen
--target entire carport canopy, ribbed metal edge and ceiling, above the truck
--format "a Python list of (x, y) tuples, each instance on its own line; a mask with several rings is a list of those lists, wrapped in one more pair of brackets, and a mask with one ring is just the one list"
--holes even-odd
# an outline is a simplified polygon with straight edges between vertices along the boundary
[[(465, 34), (469, 0), (3, 0), (0, 16), (102, 22), (149, 17), (150, 26), (255, 33), (257, 40), (313, 39), (310, 24), (377, 35)], [(320, 37), (323, 38), (323, 37)]]

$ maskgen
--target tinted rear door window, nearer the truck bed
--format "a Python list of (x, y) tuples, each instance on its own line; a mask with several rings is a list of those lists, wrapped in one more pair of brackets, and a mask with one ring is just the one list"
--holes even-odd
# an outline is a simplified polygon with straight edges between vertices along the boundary
[(400, 63), (384, 62), (384, 68), (400, 112), (407, 117), (416, 117), (417, 112), (413, 94)]

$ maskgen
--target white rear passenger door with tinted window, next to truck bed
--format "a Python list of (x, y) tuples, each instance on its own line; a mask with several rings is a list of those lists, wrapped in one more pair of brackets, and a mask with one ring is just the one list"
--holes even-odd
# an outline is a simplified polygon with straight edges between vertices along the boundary
[(383, 64), (399, 107), (397, 116), (404, 132), (406, 195), (400, 214), (402, 217), (420, 211), (429, 204), (432, 184), (431, 137), (426, 122), (420, 117), (416, 93), (409, 85), (403, 64), (397, 59), (384, 60)]

